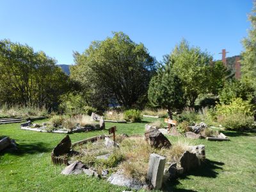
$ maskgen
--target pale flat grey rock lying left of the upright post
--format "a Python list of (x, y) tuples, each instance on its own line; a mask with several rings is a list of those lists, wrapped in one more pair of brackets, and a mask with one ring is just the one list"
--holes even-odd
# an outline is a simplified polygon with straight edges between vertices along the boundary
[(108, 182), (117, 186), (126, 186), (127, 188), (136, 189), (136, 190), (143, 188), (143, 184), (140, 181), (126, 177), (122, 173), (122, 170), (116, 173), (113, 173), (108, 178)]

